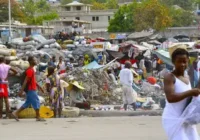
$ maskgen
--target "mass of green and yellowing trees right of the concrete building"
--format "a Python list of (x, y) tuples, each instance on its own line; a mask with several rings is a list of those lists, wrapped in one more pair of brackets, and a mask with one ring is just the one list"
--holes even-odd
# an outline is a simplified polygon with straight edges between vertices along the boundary
[[(195, 2), (194, 2), (195, 1)], [(198, 3), (199, 2), (199, 3)], [(110, 20), (109, 32), (132, 32), (167, 27), (183, 27), (194, 24), (194, 4), (200, 0), (133, 0), (122, 6)]]

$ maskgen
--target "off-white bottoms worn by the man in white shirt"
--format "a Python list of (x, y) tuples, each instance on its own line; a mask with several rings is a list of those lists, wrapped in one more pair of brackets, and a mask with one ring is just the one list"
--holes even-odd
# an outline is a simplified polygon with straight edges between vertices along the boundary
[(123, 85), (123, 104), (132, 104), (136, 102), (137, 93), (133, 90), (132, 87)]

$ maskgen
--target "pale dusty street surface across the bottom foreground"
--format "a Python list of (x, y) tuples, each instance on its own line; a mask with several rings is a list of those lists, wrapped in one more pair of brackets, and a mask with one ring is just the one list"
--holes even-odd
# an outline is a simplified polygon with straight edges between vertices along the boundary
[(167, 140), (161, 117), (0, 120), (0, 125), (1, 140)]

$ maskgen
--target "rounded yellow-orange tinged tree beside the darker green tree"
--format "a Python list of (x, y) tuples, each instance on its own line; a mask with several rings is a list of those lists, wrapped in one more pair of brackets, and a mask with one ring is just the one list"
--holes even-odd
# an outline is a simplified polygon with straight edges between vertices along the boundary
[(134, 24), (138, 31), (155, 29), (157, 31), (171, 26), (169, 9), (158, 0), (144, 1), (134, 9)]

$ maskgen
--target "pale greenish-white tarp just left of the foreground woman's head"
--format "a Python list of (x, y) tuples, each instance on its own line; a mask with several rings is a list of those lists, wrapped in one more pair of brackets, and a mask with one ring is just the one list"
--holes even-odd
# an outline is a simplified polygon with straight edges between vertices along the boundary
[(160, 58), (165, 64), (173, 66), (169, 52), (165, 50), (156, 50), (156, 51), (153, 51), (153, 54), (157, 55), (157, 57)]

